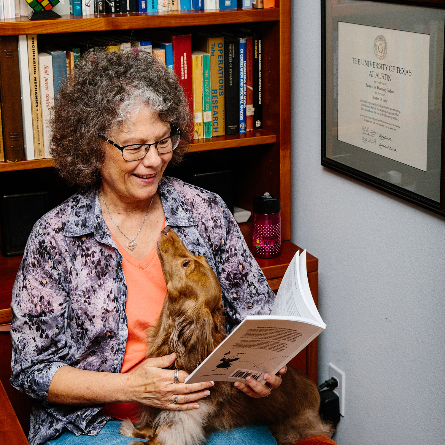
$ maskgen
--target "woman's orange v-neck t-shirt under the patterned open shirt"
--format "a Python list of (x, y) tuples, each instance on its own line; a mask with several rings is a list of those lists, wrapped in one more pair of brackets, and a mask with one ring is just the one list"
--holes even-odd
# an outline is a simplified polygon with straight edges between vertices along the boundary
[[(162, 229), (165, 227), (165, 221)], [(111, 235), (113, 236), (113, 235)], [(167, 286), (162, 275), (156, 245), (143, 261), (132, 257), (114, 238), (122, 254), (122, 269), (127, 283), (128, 336), (125, 347), (121, 373), (132, 371), (145, 360), (148, 343), (147, 329), (151, 328), (161, 314), (162, 304), (166, 298)], [(101, 409), (101, 413), (117, 419), (136, 420), (137, 403), (109, 403)]]

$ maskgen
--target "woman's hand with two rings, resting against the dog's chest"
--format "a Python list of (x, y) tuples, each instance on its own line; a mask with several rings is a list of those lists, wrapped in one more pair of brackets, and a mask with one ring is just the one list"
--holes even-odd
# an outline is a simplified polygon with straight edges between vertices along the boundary
[[(129, 398), (143, 405), (162, 409), (194, 409), (199, 408), (196, 401), (210, 394), (214, 382), (185, 384), (185, 371), (179, 371), (179, 383), (174, 383), (174, 370), (163, 369), (174, 364), (175, 354), (150, 358), (127, 374), (126, 381)], [(177, 396), (177, 403), (174, 399)]]

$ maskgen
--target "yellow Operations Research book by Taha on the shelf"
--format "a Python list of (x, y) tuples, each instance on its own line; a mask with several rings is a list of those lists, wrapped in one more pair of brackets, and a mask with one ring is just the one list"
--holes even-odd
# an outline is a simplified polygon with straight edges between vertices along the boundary
[(210, 54), (210, 82), (212, 101), (212, 136), (223, 136), (225, 131), (224, 107), (224, 37), (193, 36), (193, 44)]

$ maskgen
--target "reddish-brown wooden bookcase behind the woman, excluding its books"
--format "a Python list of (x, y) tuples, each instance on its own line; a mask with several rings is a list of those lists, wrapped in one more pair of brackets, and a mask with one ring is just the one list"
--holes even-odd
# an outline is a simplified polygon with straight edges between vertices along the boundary
[[(108, 14), (100, 16), (62, 16), (56, 20), (29, 21), (26, 17), (0, 20), (0, 35), (38, 34), (47, 42), (66, 36), (81, 40), (82, 36), (103, 31), (144, 28), (180, 28), (196, 33), (212, 27), (217, 30), (239, 27), (261, 31), (263, 36), (263, 129), (247, 134), (198, 140), (190, 151), (211, 153), (218, 160), (230, 162), (235, 179), (235, 205), (252, 210), (255, 196), (268, 191), (281, 199), (283, 254), (276, 259), (258, 260), (272, 289), (277, 290), (284, 271), (298, 250), (291, 243), (291, 152), (290, 152), (290, 17), (291, 0), (275, 0), (275, 8), (225, 10), (216, 12), (180, 11), (154, 14)], [(4, 110), (2, 110), (2, 113)], [(44, 169), (53, 166), (51, 159), (0, 162), (0, 175), (16, 170)], [(251, 224), (242, 231), (251, 245)], [(0, 325), (10, 321), (8, 309), (11, 290), (20, 257), (0, 255)], [(307, 271), (312, 294), (318, 301), (318, 260), (307, 256)], [(6, 327), (4, 327), (6, 328)], [(5, 330), (5, 329), (3, 329)], [(0, 336), (2, 340), (5, 335)], [(5, 344), (8, 344), (6, 340)], [(3, 341), (1, 342), (4, 343)], [(0, 344), (0, 352), (8, 351)], [(2, 357), (7, 358), (7, 357)], [(300, 353), (293, 364), (317, 381), (317, 343), (312, 342)], [(3, 384), (11, 398), (12, 388)], [(2, 388), (0, 388), (1, 391)], [(14, 391), (14, 390), (13, 390)], [(20, 408), (19, 408), (20, 409)], [(4, 416), (1, 416), (4, 417)], [(18, 441), (17, 443), (22, 443)], [(24, 443), (24, 442), (23, 442)]]

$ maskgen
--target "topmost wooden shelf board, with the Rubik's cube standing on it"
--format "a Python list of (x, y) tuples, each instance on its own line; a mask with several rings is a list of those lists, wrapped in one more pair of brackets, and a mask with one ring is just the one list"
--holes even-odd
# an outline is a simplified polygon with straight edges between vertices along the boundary
[(224, 11), (177, 11), (130, 14), (101, 14), (97, 17), (62, 16), (60, 19), (0, 20), (0, 35), (54, 34), (58, 32), (114, 31), (141, 28), (167, 28), (176, 26), (202, 26), (230, 23), (251, 23), (279, 20), (279, 8), (226, 9)]

